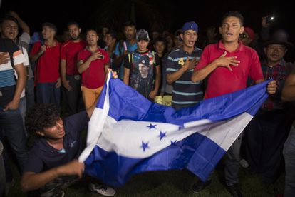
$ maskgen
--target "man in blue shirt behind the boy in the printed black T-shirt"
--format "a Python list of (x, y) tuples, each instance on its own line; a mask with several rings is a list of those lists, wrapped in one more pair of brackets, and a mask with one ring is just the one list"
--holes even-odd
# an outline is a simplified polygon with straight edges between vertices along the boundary
[(124, 59), (125, 56), (127, 56), (128, 52), (135, 51), (135, 49), (138, 48), (138, 45), (136, 44), (135, 34), (136, 34), (136, 26), (133, 21), (126, 21), (124, 24), (124, 35), (125, 35), (125, 41), (119, 41), (118, 44), (115, 46), (115, 59), (116, 64), (120, 69), (119, 71), (119, 77), (123, 80), (124, 76)]

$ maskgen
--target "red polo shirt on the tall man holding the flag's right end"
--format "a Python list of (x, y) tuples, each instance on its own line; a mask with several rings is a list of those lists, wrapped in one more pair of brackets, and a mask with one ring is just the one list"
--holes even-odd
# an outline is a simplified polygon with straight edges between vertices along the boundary
[[(226, 49), (222, 41), (206, 46), (199, 63), (195, 67), (195, 71), (210, 64), (224, 54), (224, 51)], [(227, 51), (226, 56), (237, 56), (237, 60), (240, 61), (239, 66), (231, 66), (232, 71), (222, 66), (212, 71), (208, 77), (205, 98), (212, 98), (245, 89), (248, 76), (254, 81), (264, 79), (257, 52), (248, 46), (244, 46), (241, 41), (239, 41), (239, 48), (234, 52)]]

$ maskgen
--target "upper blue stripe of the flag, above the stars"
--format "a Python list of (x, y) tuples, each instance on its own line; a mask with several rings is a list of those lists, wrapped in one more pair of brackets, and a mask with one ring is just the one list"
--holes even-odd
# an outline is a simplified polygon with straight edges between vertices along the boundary
[[(178, 125), (203, 118), (212, 121), (222, 121), (237, 116), (244, 111), (253, 116), (258, 110), (257, 102), (260, 106), (268, 97), (265, 89), (268, 82), (264, 81), (232, 94), (209, 98), (200, 101), (196, 106), (175, 111), (172, 107), (148, 101), (148, 99), (138, 94), (138, 91), (135, 91), (135, 89), (125, 86), (123, 81), (119, 79), (110, 79), (109, 94), (111, 102), (108, 115), (116, 121), (130, 119), (135, 121), (175, 123)], [(100, 94), (97, 108), (103, 108), (105, 90), (106, 86), (104, 86)]]

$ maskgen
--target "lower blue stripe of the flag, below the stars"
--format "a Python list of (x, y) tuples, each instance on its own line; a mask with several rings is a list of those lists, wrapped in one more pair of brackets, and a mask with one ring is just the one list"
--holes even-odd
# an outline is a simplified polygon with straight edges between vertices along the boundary
[[(201, 142), (202, 145), (199, 146)], [(197, 151), (195, 151), (196, 149)], [(199, 133), (168, 146), (144, 160), (118, 156), (115, 152), (109, 153), (95, 146), (85, 161), (85, 173), (115, 187), (123, 186), (131, 176), (143, 171), (167, 171), (183, 168), (197, 171), (202, 168), (202, 172), (198, 175), (202, 180), (206, 180), (212, 168), (217, 165), (224, 153), (225, 151), (216, 143)], [(198, 163), (195, 163), (195, 161), (198, 161)]]

